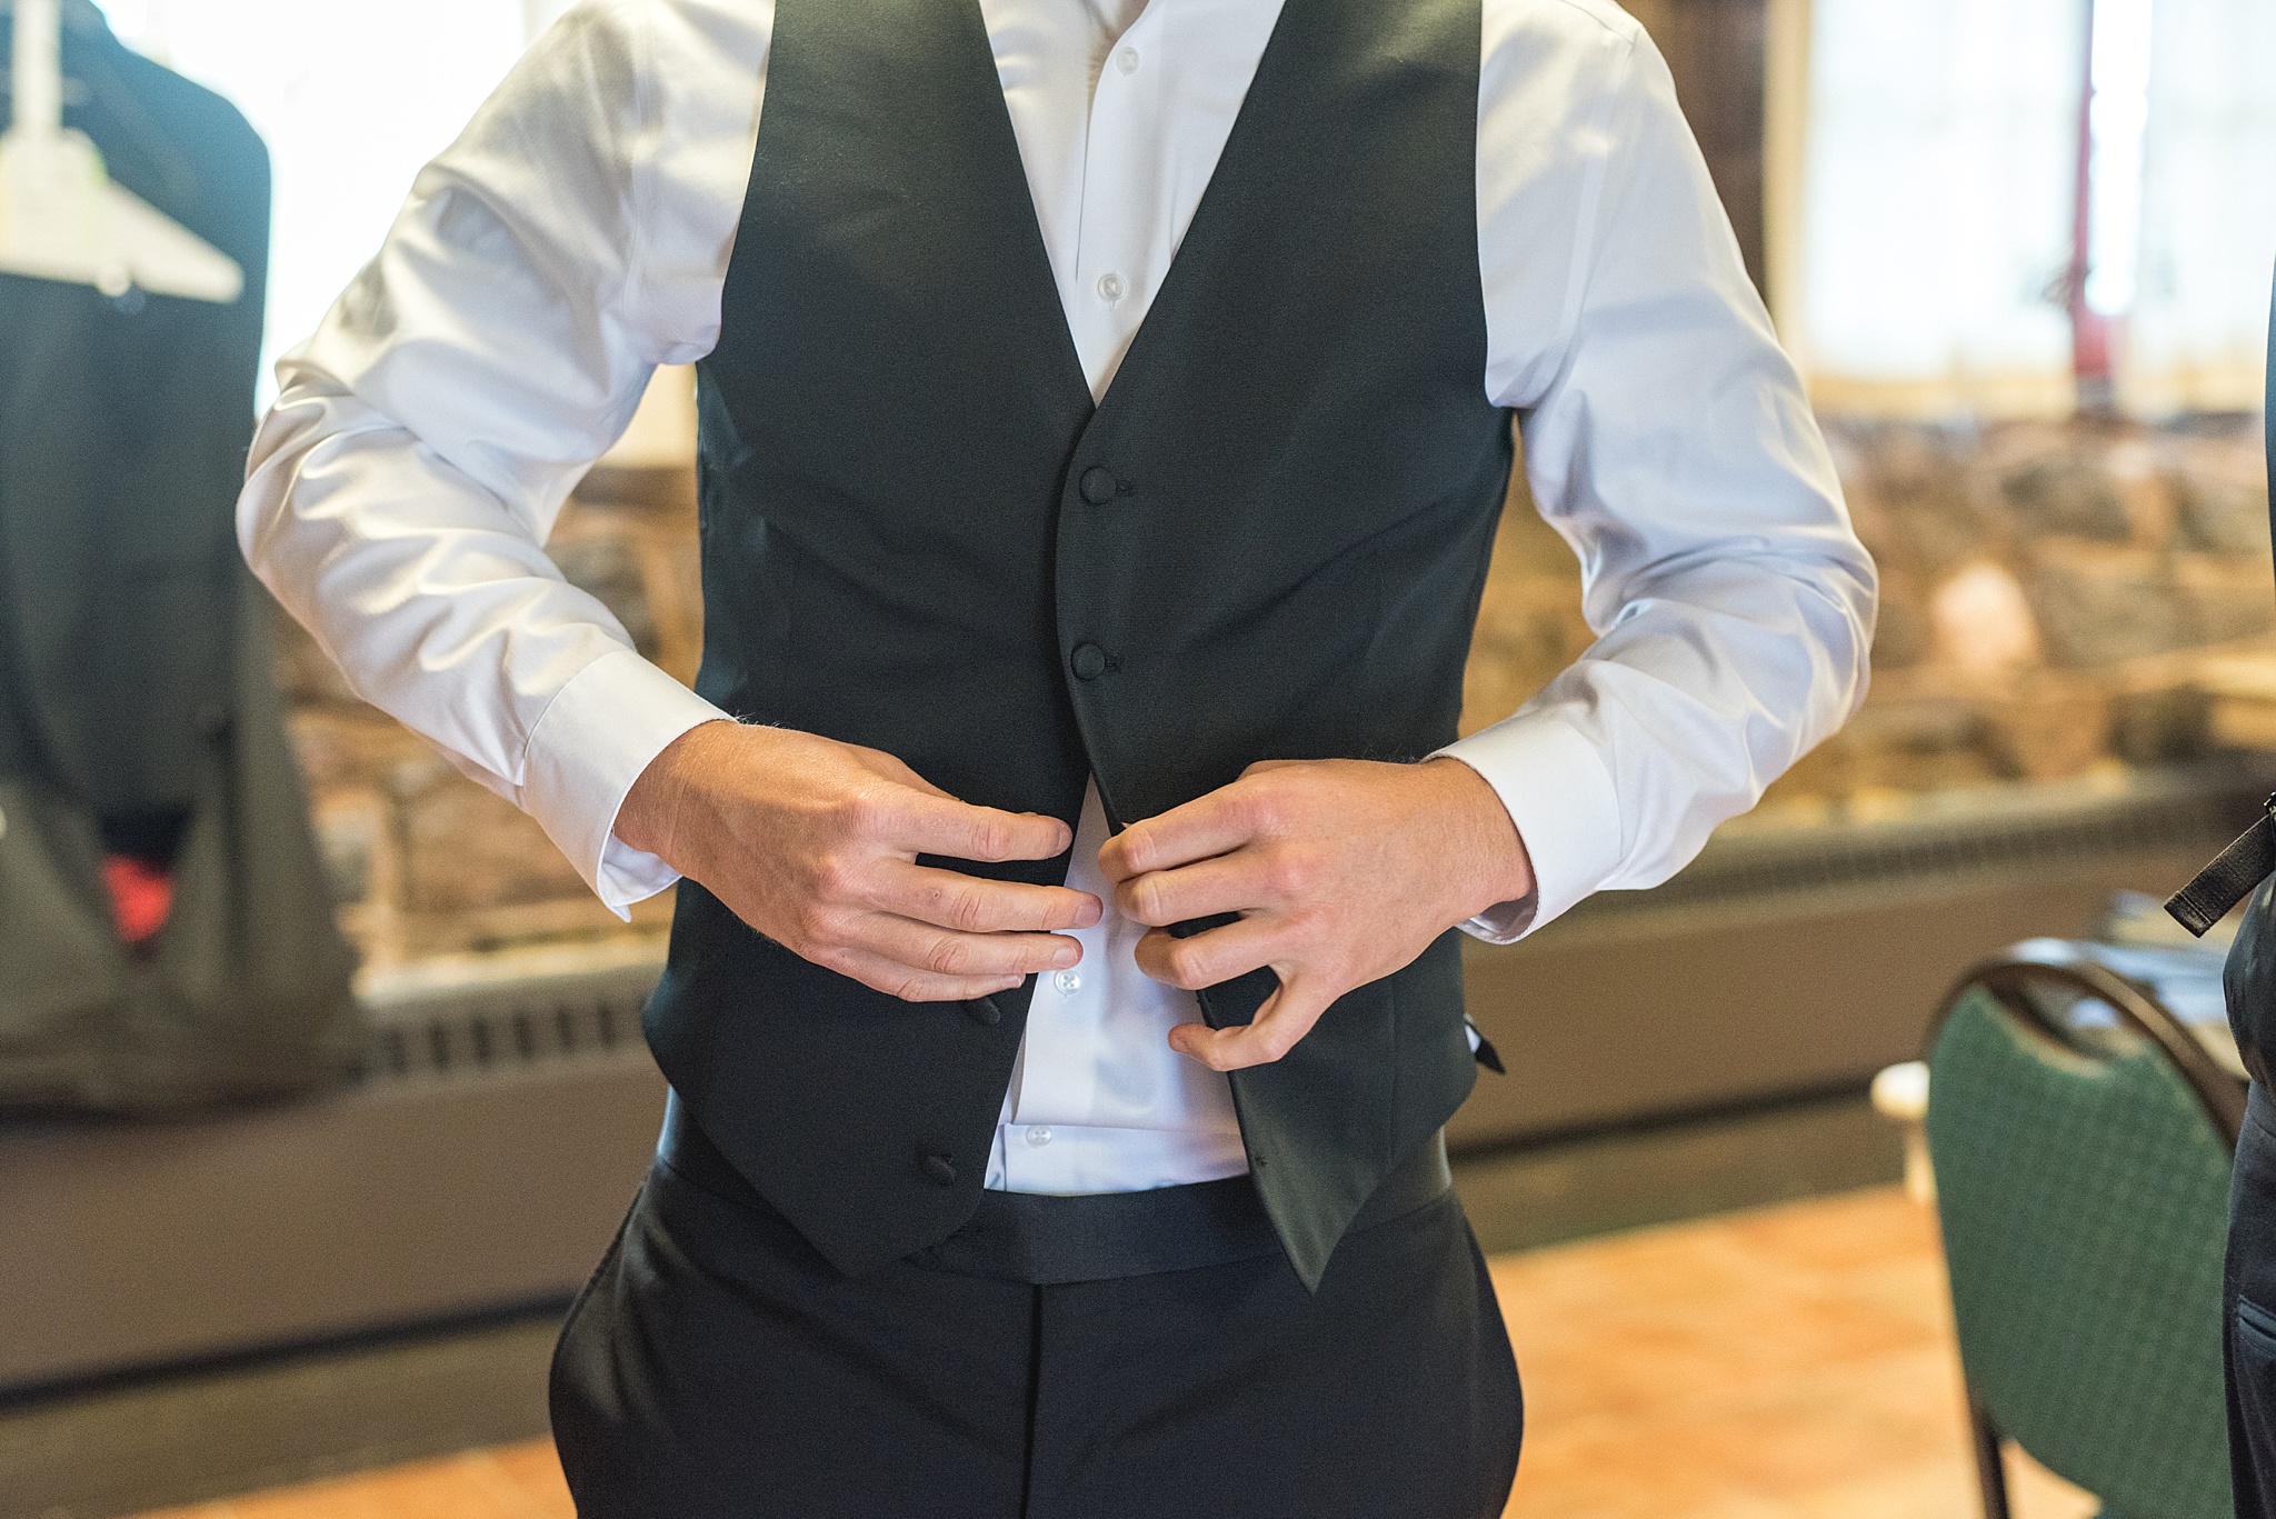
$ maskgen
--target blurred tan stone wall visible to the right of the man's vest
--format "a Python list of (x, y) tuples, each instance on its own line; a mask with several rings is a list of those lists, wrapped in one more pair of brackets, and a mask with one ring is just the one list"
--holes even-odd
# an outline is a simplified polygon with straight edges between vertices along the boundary
[[(1882, 572), (1873, 690), (1771, 788), (1762, 822), (1962, 786), (2119, 779), (2221, 747), (2212, 674), (2276, 660), (2258, 419), (1834, 419), (1825, 433)], [(1589, 640), (1573, 556), (1518, 494), (1463, 726), (1511, 711)]]

